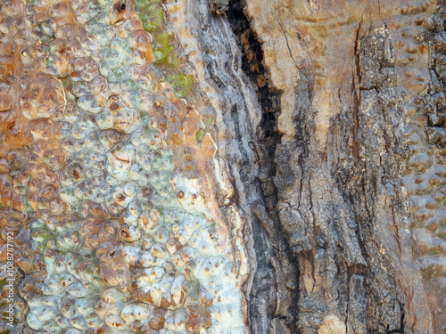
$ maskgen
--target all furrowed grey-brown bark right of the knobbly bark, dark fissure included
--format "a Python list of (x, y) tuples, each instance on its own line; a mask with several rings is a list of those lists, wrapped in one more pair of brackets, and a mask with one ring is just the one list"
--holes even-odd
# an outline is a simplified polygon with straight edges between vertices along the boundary
[[(219, 142), (219, 155), (230, 161), (234, 179), (242, 180), (235, 182), (239, 199), (251, 198), (237, 204), (250, 206), (262, 226), (249, 218), (253, 244), (248, 248), (254, 250), (252, 331), (440, 332), (442, 321), (434, 314), (440, 314), (443, 299), (438, 289), (438, 296), (433, 291), (442, 281), (438, 268), (443, 261), (443, 197), (438, 195), (441, 189), (434, 190), (440, 204), (429, 207), (435, 217), (429, 233), (436, 234), (426, 236), (425, 229), (413, 229), (417, 225), (412, 222), (414, 204), (408, 197), (407, 177), (402, 175), (407, 173), (410, 154), (415, 156), (407, 150), (411, 129), (421, 129), (425, 142), (428, 131), (432, 141), (442, 145), (442, 106), (428, 115), (429, 129), (424, 130), (423, 119), (427, 118), (413, 119), (417, 112), (425, 115), (413, 105), (424, 101), (427, 87), (438, 81), (426, 77), (433, 67), (426, 45), (433, 39), (440, 50), (434, 57), (435, 69), (442, 71), (442, 37), (434, 37), (442, 29), (435, 12), (441, 13), (442, 8), (409, 1), (296, 0), (267, 5), (252, 0), (245, 7), (251, 20), (248, 27), (241, 5), (230, 3), (226, 14), (214, 10), (217, 17), (210, 16), (204, 4), (198, 11), (185, 5), (187, 13), (200, 18), (201, 29), (188, 23), (189, 28), (194, 27), (188, 31), (191, 34), (186, 38), (180, 32), (178, 39), (189, 45), (186, 54), (190, 53), (189, 60), (214, 109), (218, 113), (232, 110), (231, 118), (222, 118), (225, 124), (218, 124), (218, 137), (238, 138), (240, 154), (230, 157), (228, 152), (233, 151)], [(212, 6), (214, 3), (211, 8), (215, 8)], [(226, 20), (242, 50), (242, 69), (252, 84), (246, 79), (243, 85), (240, 80), (227, 80), (240, 74), (238, 52), (234, 70), (220, 71), (227, 50), (235, 50)], [(177, 32), (186, 21), (171, 20)], [(198, 53), (193, 52), (191, 40), (199, 41), (194, 44)], [(217, 53), (210, 55), (203, 45)], [(232, 46), (225, 50), (225, 45)], [(257, 110), (252, 128), (244, 132), (234, 126), (234, 135), (226, 126), (240, 125), (240, 115), (250, 110), (234, 103), (240, 92), (244, 94), (244, 85), (254, 87), (257, 96), (251, 90), (248, 104), (257, 97), (262, 118), (258, 119)], [(432, 93), (436, 105), (442, 102), (440, 88)], [(227, 111), (222, 114), (228, 115)], [(257, 125), (254, 138), (249, 131)], [(247, 160), (240, 159), (246, 157), (244, 135), (257, 143), (252, 146), (256, 150), (251, 150), (257, 151), (258, 165), (251, 161), (255, 168), (248, 179), (242, 177)], [(441, 176), (441, 171), (435, 175)], [(431, 245), (428, 249), (434, 257), (417, 253), (420, 246), (427, 247), (425, 242)], [(430, 273), (428, 280), (423, 279), (426, 273)], [(261, 277), (273, 275), (274, 289), (260, 283)], [(419, 286), (424, 288), (417, 289)], [(437, 305), (435, 311), (433, 305)]]

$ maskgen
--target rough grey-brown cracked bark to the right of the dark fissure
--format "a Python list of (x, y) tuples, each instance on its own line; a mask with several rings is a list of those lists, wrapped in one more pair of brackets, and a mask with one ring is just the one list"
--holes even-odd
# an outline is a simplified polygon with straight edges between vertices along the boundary
[[(406, 150), (411, 132), (419, 150), (429, 146), (425, 131), (442, 142), (442, 123), (426, 129), (417, 107), (429, 99), (427, 45), (438, 10), (427, 2), (247, 1), (271, 83), (284, 91), (274, 180), (280, 223), (299, 258), (298, 331), (442, 332), (444, 299), (434, 289), (442, 247), (417, 254), (442, 243), (422, 229), (434, 217), (441, 233), (442, 204), (413, 216), (402, 179), (416, 157), (415, 177), (442, 185), (433, 178), (443, 158), (421, 162), (424, 155)], [(416, 209), (425, 203), (416, 200)]]

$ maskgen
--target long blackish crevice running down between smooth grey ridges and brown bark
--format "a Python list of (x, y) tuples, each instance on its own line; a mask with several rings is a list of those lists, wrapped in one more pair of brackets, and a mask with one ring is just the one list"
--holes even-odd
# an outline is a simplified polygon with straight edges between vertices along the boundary
[[(292, 305), (297, 303), (297, 281), (299, 277), (298, 268), (293, 266), (297, 259), (293, 257), (287, 232), (279, 223), (277, 187), (274, 183), (276, 176), (274, 157), (277, 144), (280, 141), (280, 135), (277, 132), (277, 116), (280, 113), (280, 95), (282, 92), (270, 84), (268, 71), (263, 63), (261, 45), (244, 15), (242, 2), (231, 2), (227, 12), (227, 20), (231, 24), (237, 44), (243, 53), (242, 68), (251, 79), (261, 106), (256, 152), (260, 165), (260, 172), (257, 177), (261, 184), (262, 200), (252, 205), (252, 210), (268, 232), (269, 240), (271, 240), (272, 247), (275, 250), (270, 257), (270, 261), (274, 266), (276, 286), (259, 284), (260, 277), (264, 275), (260, 266), (257, 272), (252, 273), (254, 281), (250, 294), (251, 328), (253, 333), (265, 333), (270, 330), (286, 333), (290, 329), (295, 331), (294, 324), (297, 319), (297, 310)], [(255, 231), (253, 231), (253, 235), (255, 238)], [(261, 246), (259, 246), (260, 244), (256, 243), (254, 239), (256, 252), (261, 249)], [(262, 289), (265, 290), (263, 293), (260, 292)], [(271, 295), (274, 293), (276, 294), (274, 298), (265, 299), (265, 294)], [(260, 305), (268, 305), (268, 314), (258, 312)], [(268, 322), (265, 322), (265, 319), (268, 319)]]

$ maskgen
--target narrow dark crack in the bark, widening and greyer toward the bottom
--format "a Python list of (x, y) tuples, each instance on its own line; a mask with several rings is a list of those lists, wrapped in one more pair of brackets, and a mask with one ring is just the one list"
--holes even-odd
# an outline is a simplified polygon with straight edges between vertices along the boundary
[[(273, 181), (277, 173), (275, 157), (281, 137), (277, 131), (281, 92), (268, 82), (267, 69), (262, 62), (261, 45), (250, 28), (249, 20), (244, 15), (244, 4), (241, 0), (230, 2), (227, 20), (235, 34), (237, 45), (242, 51), (242, 69), (245, 75), (251, 79), (261, 107), (261, 120), (257, 129), (257, 155), (260, 163), (257, 188), (262, 199), (260, 205), (266, 209), (264, 211), (266, 215), (262, 216), (259, 210), (253, 208), (259, 217), (259, 221), (254, 221), (252, 224), (258, 267), (254, 273), (250, 294), (250, 327), (252, 333), (282, 332), (281, 329), (287, 330), (286, 332), (298, 333), (296, 329), (298, 316), (296, 305), (299, 297), (298, 259), (293, 255), (289, 236), (280, 224), (277, 212), (277, 188)], [(271, 249), (271, 245), (273, 249)], [(274, 258), (267, 258), (265, 255), (268, 253)], [(283, 268), (284, 260), (289, 262), (291, 270)], [(268, 270), (273, 266), (275, 267), (275, 272), (273, 272), (275, 277), (268, 278)], [(293, 287), (284, 284), (284, 278), (281, 278), (281, 273), (279, 273), (281, 270), (288, 275), (294, 272)], [(266, 279), (270, 282), (269, 284), (265, 284)], [(271, 284), (273, 281), (274, 283)], [(277, 292), (281, 289), (287, 291), (289, 300), (277, 300), (279, 295)], [(278, 302), (289, 303), (290, 307), (286, 314), (280, 312)], [(280, 323), (275, 324), (276, 321)], [(268, 323), (268, 328), (259, 325), (259, 323)]]

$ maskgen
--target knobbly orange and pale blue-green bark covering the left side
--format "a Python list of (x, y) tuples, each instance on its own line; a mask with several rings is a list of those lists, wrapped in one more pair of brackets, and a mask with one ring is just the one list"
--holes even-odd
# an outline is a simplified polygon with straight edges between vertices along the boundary
[(132, 1), (23, 4), (0, 7), (2, 232), (28, 253), (14, 330), (245, 333), (252, 232), (215, 114), (174, 94)]

